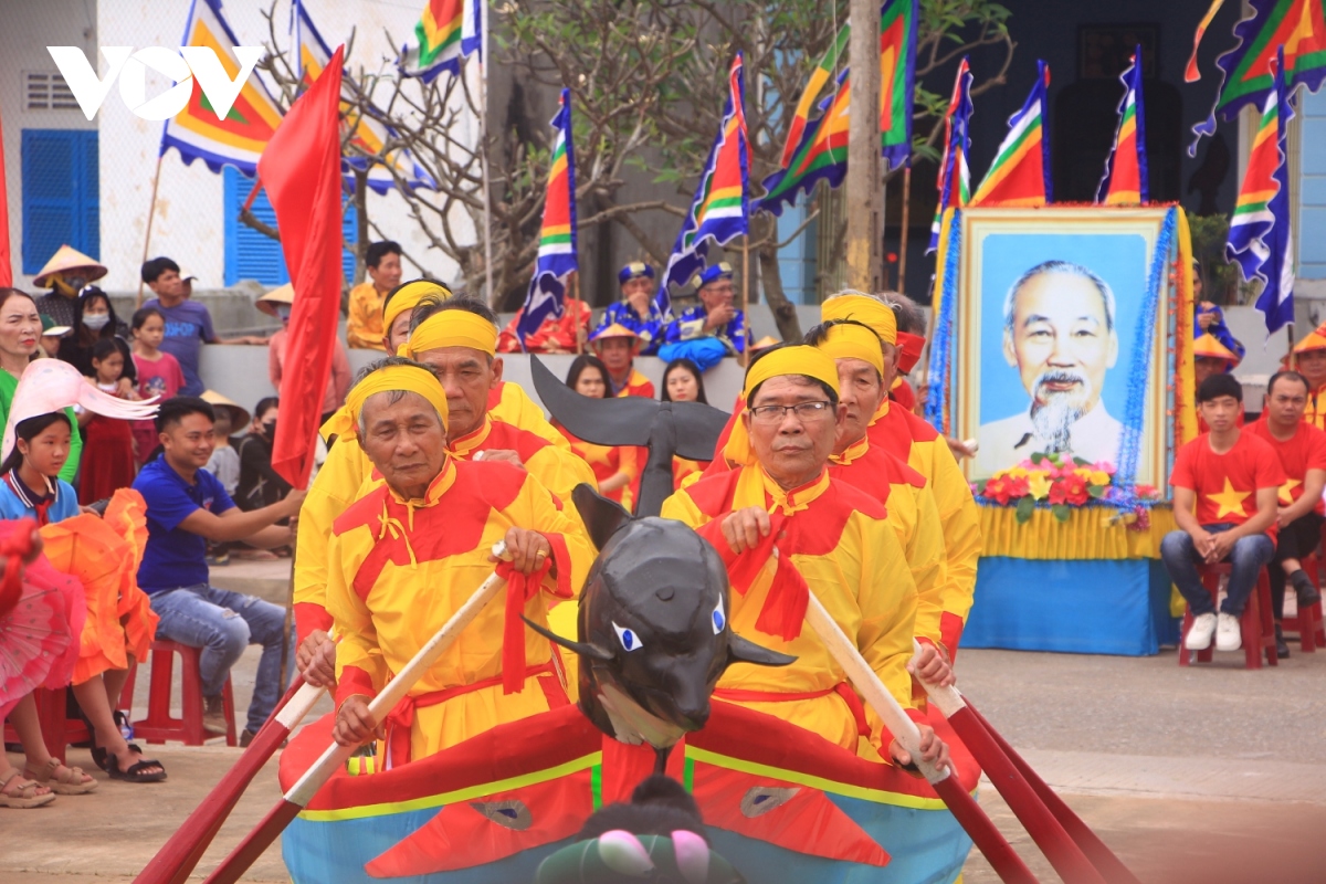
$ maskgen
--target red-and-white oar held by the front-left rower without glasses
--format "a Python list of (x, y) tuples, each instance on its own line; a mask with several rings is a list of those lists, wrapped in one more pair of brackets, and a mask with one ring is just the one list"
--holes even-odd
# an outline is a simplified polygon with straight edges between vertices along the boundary
[[(507, 558), (505, 543), (495, 543), (492, 551), (496, 558)], [(374, 721), (382, 722), (386, 720), (396, 704), (410, 693), (410, 688), (447, 652), (447, 648), (455, 643), (464, 628), (479, 616), (484, 606), (501, 592), (505, 586), (507, 580), (497, 577), (497, 574), (492, 574), (484, 580), (483, 586), (475, 590), (469, 600), (451, 615), (451, 619), (428, 639), (427, 644), (419, 648), (419, 652), (414, 655), (410, 663), (373, 698), (373, 702), (369, 704), (369, 713), (373, 714)], [(233, 884), (237, 881), (240, 875), (263, 855), (263, 851), (272, 846), (272, 842), (289, 826), (290, 820), (298, 816), (300, 811), (308, 806), (313, 795), (317, 794), (332, 774), (345, 765), (346, 758), (354, 753), (354, 746), (342, 746), (337, 742), (328, 746), (326, 751), (322, 753), (313, 766), (268, 811), (263, 822), (257, 824), (257, 828), (249, 832), (231, 851), (229, 856), (221, 860), (216, 871), (207, 877), (206, 884)]]

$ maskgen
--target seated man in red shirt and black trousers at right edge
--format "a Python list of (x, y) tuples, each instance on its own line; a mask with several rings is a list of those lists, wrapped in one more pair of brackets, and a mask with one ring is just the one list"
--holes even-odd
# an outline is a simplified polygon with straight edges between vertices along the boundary
[(1326, 432), (1303, 423), (1307, 407), (1307, 380), (1297, 371), (1280, 371), (1266, 384), (1261, 420), (1248, 428), (1266, 440), (1280, 455), (1280, 465), (1289, 480), (1280, 488), (1276, 525), (1276, 558), (1269, 569), (1270, 604), (1276, 615), (1276, 649), (1289, 656), (1289, 645), (1280, 628), (1285, 614), (1285, 582), (1294, 584), (1298, 610), (1321, 602), (1302, 559), (1311, 555), (1322, 539), (1326, 506)]

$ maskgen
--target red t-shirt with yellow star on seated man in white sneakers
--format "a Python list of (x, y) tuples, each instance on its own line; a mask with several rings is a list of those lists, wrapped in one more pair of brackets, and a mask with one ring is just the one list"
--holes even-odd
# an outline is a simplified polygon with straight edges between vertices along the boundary
[[(1257, 514), (1257, 489), (1285, 484), (1285, 468), (1276, 449), (1250, 432), (1224, 455), (1211, 451), (1211, 433), (1201, 433), (1179, 449), (1170, 484), (1197, 496), (1197, 521), (1203, 525), (1242, 525)], [(1266, 534), (1276, 535), (1272, 524)]]

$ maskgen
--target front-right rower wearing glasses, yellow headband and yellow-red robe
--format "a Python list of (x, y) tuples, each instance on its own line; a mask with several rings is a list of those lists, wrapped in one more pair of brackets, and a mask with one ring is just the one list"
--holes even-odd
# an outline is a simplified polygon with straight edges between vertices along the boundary
[(918, 599), (902, 545), (879, 501), (826, 469), (846, 411), (834, 360), (813, 347), (772, 347), (747, 370), (743, 398), (724, 448), (737, 467), (676, 492), (662, 514), (695, 527), (729, 562), (732, 628), (797, 661), (777, 672), (729, 669), (713, 696), (847, 750), (869, 737), (878, 751), (887, 746), (899, 763), (911, 762), (805, 627), (794, 570), (918, 722), (924, 758), (947, 763), (948, 749), (912, 702), (907, 663)]

